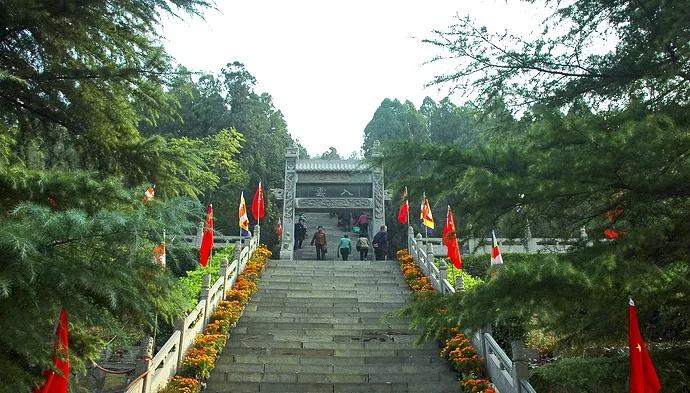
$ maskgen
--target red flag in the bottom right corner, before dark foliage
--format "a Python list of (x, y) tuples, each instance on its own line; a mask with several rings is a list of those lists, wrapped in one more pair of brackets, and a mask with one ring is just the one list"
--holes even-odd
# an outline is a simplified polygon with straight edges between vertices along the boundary
[(656, 393), (661, 390), (652, 358), (644, 345), (637, 309), (630, 299), (628, 304), (628, 345), (630, 346), (630, 393)]

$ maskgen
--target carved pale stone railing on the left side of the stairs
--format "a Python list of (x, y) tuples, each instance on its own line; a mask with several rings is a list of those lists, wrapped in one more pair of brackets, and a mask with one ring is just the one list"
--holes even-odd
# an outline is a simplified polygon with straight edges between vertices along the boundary
[[(214, 238), (215, 241), (215, 238)], [(245, 238), (244, 242), (235, 242), (235, 258), (229, 262), (223, 259), (220, 267), (220, 277), (211, 285), (210, 276), (204, 276), (204, 282), (199, 295), (199, 303), (189, 314), (177, 322), (177, 330), (168, 341), (153, 355), (153, 339), (148, 337), (142, 345), (136, 366), (137, 377), (132, 381), (125, 393), (157, 393), (177, 373), (184, 355), (194, 345), (194, 339), (201, 333), (209, 322), (211, 313), (223, 300), (225, 292), (232, 288), (237, 276), (244, 270), (249, 258), (259, 246), (259, 227), (254, 236)], [(153, 356), (152, 356), (153, 355)]]

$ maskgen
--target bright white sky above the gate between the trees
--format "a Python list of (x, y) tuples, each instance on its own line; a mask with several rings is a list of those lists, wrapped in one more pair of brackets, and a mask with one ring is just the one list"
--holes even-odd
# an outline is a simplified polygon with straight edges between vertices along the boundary
[(423, 63), (438, 49), (420, 42), (467, 15), (490, 30), (538, 31), (545, 10), (518, 0), (217, 0), (218, 10), (164, 24), (178, 63), (218, 73), (244, 63), (258, 91), (273, 97), (288, 130), (311, 156), (334, 146), (359, 151), (364, 127), (384, 98), (440, 100), (424, 88), (450, 65)]

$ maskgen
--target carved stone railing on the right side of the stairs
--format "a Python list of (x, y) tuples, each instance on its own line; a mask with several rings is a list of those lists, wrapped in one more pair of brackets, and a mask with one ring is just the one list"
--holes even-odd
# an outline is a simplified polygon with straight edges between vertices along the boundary
[[(447, 264), (444, 260), (441, 260), (438, 267), (434, 263), (434, 251), (437, 249), (433, 243), (436, 239), (423, 239), (421, 234), (415, 237), (412, 227), (408, 228), (407, 239), (410, 255), (414, 258), (417, 266), (429, 277), (434, 289), (444, 295), (464, 290), (460, 276), (456, 276), (455, 283), (451, 284), (448, 281)], [(440, 243), (440, 239), (438, 242)], [(522, 343), (513, 343), (513, 359), (510, 359), (491, 336), (490, 329), (481, 329), (478, 332), (468, 334), (468, 336), (477, 350), (477, 354), (484, 359), (486, 373), (499, 392), (535, 393), (532, 385), (527, 381), (527, 361)]]

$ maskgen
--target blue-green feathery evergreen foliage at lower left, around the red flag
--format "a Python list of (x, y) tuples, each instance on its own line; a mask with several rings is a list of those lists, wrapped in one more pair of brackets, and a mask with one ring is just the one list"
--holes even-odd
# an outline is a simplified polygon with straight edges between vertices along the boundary
[[(153, 263), (152, 248), (164, 229), (169, 239), (193, 231), (200, 217), (190, 212), (202, 211), (186, 198), (144, 204), (143, 188), (126, 189), (114, 178), (43, 175), (51, 182), (12, 183), (35, 201), (4, 206), (0, 217), (0, 362), (7, 365), (0, 380), (11, 381), (8, 389), (30, 389), (50, 364), (60, 308), (70, 315), (77, 371), (98, 359), (106, 341), (131, 343), (152, 330), (156, 314), (168, 320), (178, 315), (186, 305), (182, 291), (168, 270)], [(61, 180), (72, 187), (61, 188), (57, 204), (40, 201), (46, 191), (41, 187)]]

